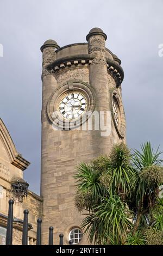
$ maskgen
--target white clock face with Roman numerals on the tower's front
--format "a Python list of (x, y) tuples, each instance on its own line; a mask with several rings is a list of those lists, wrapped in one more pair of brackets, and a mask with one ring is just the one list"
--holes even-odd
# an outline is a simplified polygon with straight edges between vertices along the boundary
[(67, 120), (81, 117), (87, 108), (86, 97), (79, 92), (67, 93), (59, 104), (59, 112)]

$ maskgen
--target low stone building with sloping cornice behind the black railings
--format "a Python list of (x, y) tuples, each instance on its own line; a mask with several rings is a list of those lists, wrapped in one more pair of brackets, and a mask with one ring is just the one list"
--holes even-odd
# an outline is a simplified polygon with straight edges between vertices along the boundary
[(28, 242), (36, 243), (37, 218), (42, 214), (42, 198), (28, 191), (27, 198), (22, 198), (12, 189), (11, 184), (23, 181), (23, 171), (29, 162), (17, 152), (14, 143), (0, 119), (0, 245), (5, 244), (8, 201), (14, 199), (13, 245), (21, 245), (23, 229), (23, 210), (28, 209)]

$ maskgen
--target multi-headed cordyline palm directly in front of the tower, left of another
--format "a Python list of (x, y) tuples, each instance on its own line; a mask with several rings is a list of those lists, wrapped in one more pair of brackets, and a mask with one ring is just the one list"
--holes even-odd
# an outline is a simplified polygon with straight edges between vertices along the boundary
[(101, 156), (78, 167), (75, 204), (89, 214), (83, 228), (90, 242), (122, 244), (131, 228), (126, 201), (136, 182), (131, 154), (125, 144), (115, 145), (109, 157)]

